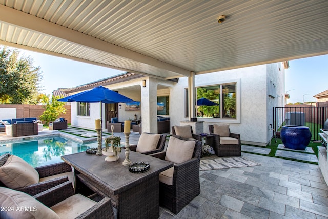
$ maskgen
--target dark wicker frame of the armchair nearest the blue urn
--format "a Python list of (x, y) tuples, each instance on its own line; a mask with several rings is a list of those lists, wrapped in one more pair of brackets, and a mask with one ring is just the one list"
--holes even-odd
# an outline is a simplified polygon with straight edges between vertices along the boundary
[[(226, 144), (223, 143), (222, 137), (220, 135), (214, 134), (214, 126), (209, 125), (210, 134), (214, 136), (214, 151), (217, 156), (241, 156), (241, 142), (240, 142), (240, 135), (231, 133), (229, 130), (229, 137), (224, 138), (234, 138), (237, 144)], [(236, 141), (237, 140), (237, 141)]]

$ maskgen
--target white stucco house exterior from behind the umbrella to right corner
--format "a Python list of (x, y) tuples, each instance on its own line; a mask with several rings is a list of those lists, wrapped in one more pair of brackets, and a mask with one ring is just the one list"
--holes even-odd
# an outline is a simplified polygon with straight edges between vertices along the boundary
[[(144, 79), (147, 81), (146, 87), (141, 85)], [(211, 124), (230, 124), (231, 132), (239, 133), (242, 143), (267, 145), (273, 133), (270, 130), (270, 124), (273, 124), (273, 107), (284, 106), (283, 65), (274, 63), (195, 76), (195, 87), (227, 83), (236, 83), (236, 118), (198, 118), (199, 121), (204, 121), (203, 132), (209, 133), (208, 125)], [(141, 102), (141, 111), (125, 111), (125, 104), (121, 103), (121, 109), (118, 109), (119, 121), (133, 119), (134, 114), (137, 114), (138, 118), (142, 117), (142, 127), (145, 130), (156, 132), (157, 96), (170, 98), (170, 115), (165, 117), (171, 118), (171, 126), (188, 120), (187, 77), (172, 82), (145, 76), (106, 87)], [(94, 129), (94, 120), (99, 118), (99, 106), (99, 103), (91, 103), (90, 116), (76, 116), (77, 104), (73, 102), (72, 125)]]

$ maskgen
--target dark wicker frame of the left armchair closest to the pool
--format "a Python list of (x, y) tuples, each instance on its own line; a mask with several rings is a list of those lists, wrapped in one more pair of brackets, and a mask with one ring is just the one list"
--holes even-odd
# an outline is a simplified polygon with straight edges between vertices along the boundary
[[(10, 154), (3, 154), (0, 156), (0, 167), (3, 166), (8, 158), (10, 157)], [(25, 193), (28, 193), (30, 195), (35, 195), (40, 192), (43, 192), (47, 189), (50, 189), (54, 186), (57, 186), (61, 183), (64, 183), (68, 181), (68, 175), (65, 173), (69, 173), (70, 175), (74, 176), (74, 173), (72, 172), (72, 167), (65, 162), (57, 163), (57, 164), (51, 164), (51, 165), (46, 165), (42, 167), (36, 167), (34, 168), (40, 178), (39, 183), (31, 184), (25, 187), (17, 188), (15, 190), (22, 191)], [(59, 175), (58, 175), (59, 174)], [(58, 177), (56, 177), (58, 175)], [(52, 176), (52, 179), (42, 181), (42, 178), (46, 178)], [(71, 183), (71, 182), (70, 182)], [(3, 182), (0, 181), (0, 186), (2, 187), (7, 187)]]

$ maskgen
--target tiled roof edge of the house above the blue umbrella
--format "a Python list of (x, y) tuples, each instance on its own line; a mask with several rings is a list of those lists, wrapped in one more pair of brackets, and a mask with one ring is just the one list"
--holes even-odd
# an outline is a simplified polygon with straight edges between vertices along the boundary
[(126, 73), (118, 74), (118, 75), (115, 75), (115, 76), (112, 76), (112, 77), (99, 79), (98, 81), (94, 81), (94, 82), (90, 82), (88, 84), (80, 85), (80, 86), (77, 86), (75, 88), (66, 89), (65, 93), (66, 94), (74, 93), (76, 91), (87, 90), (87, 89), (91, 89), (91, 88), (94, 88), (94, 87), (98, 87), (100, 85), (106, 86), (106, 85), (115, 84), (115, 83), (119, 83), (119, 82), (129, 81), (129, 80), (139, 78), (139, 77), (144, 77), (144, 75), (126, 72)]

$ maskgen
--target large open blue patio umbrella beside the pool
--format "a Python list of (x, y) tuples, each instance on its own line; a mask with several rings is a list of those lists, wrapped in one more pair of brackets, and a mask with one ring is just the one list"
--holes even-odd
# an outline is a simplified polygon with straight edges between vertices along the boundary
[(103, 127), (103, 112), (101, 105), (103, 103), (130, 103), (134, 102), (132, 99), (112, 91), (106, 87), (99, 86), (91, 90), (83, 91), (72, 96), (67, 96), (58, 101), (63, 102), (84, 102), (84, 103), (100, 103), (100, 123)]

